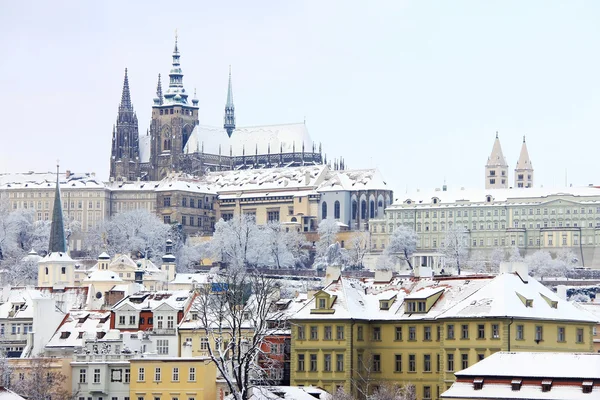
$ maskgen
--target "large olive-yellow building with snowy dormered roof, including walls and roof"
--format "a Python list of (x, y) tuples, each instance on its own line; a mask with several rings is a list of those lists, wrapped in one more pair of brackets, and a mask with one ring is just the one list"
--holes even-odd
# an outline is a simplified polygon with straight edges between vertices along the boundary
[(359, 395), (412, 383), (417, 398), (437, 399), (454, 371), (497, 351), (592, 351), (595, 322), (523, 267), (497, 277), (334, 280), (292, 317), (291, 384)]

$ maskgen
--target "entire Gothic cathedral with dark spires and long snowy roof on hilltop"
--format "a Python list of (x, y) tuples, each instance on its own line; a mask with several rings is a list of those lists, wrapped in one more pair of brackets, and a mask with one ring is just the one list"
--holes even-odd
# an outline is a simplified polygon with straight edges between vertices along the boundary
[[(158, 181), (171, 172), (203, 175), (208, 171), (326, 163), (304, 123), (239, 128), (236, 125), (231, 70), (223, 127), (200, 125), (198, 100), (183, 86), (175, 39), (169, 86), (160, 74), (150, 129), (140, 136), (131, 102), (127, 69), (113, 127), (110, 178), (113, 181)], [(340, 161), (339, 169), (344, 169)]]

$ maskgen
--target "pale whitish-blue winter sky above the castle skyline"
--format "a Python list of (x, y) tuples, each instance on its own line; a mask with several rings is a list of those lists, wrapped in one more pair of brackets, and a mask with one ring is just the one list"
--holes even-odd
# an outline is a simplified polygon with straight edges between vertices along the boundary
[[(108, 178), (128, 68), (140, 134), (179, 36), (199, 119), (305, 121), (396, 194), (484, 187), (496, 132), (535, 186), (600, 185), (598, 1), (3, 1), (0, 173)], [(164, 85), (163, 85), (164, 88)]]

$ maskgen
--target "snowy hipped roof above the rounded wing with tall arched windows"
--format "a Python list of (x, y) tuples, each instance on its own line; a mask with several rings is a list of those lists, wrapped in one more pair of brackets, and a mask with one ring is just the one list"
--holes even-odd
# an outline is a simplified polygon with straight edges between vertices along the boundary
[(329, 171), (319, 192), (354, 190), (389, 190), (378, 169), (348, 169)]

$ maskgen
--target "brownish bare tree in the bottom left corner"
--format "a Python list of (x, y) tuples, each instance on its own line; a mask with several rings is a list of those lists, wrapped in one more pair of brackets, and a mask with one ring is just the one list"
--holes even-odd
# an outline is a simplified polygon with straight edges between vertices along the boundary
[(76, 393), (64, 388), (67, 377), (51, 363), (50, 358), (32, 358), (23, 368), (15, 368), (10, 389), (28, 400), (72, 400)]

